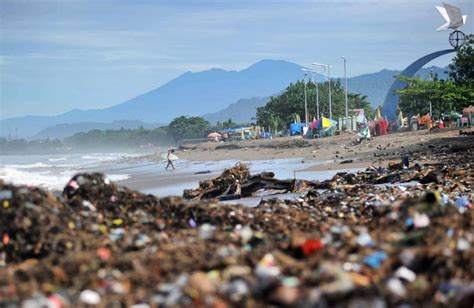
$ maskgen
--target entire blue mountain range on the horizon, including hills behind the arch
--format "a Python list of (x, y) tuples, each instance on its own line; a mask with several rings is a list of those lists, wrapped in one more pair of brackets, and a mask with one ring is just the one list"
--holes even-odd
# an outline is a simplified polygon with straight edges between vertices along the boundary
[[(283, 60), (262, 60), (241, 71), (210, 69), (187, 72), (161, 87), (109, 108), (74, 109), (56, 116), (0, 120), (0, 136), (6, 137), (10, 131), (18, 137), (59, 137), (94, 128), (120, 128), (117, 125), (121, 124), (112, 124), (114, 121), (125, 121), (123, 123), (137, 127), (153, 126), (149, 123), (169, 123), (180, 115), (205, 115), (210, 122), (228, 118), (236, 122), (249, 122), (255, 117), (256, 108), (264, 105), (270, 95), (303, 78), (301, 68), (301, 65)], [(419, 75), (426, 78), (430, 69), (439, 78), (446, 78), (447, 69), (439, 67), (424, 68)], [(382, 70), (348, 78), (349, 91), (367, 95), (374, 107), (381, 105), (394, 80), (393, 76), (399, 73)], [(316, 78), (321, 81), (323, 76)]]

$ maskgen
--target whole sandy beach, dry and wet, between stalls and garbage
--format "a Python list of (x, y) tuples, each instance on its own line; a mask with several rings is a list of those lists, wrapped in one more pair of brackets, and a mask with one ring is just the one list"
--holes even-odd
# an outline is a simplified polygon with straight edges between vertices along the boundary
[(361, 144), (354, 144), (354, 133), (313, 140), (297, 136), (188, 144), (176, 150), (180, 158), (176, 170), (164, 170), (162, 153), (146, 155), (133, 159), (146, 165), (127, 170), (130, 178), (118, 183), (154, 195), (181, 195), (183, 189), (197, 187), (199, 181), (215, 177), (239, 161), (249, 164), (253, 173), (271, 171), (282, 179), (324, 180), (339, 171), (398, 163), (404, 154), (412, 162), (425, 163), (429, 152), (427, 157), (410, 153), (456, 143), (458, 136), (459, 130), (446, 129), (397, 132)]

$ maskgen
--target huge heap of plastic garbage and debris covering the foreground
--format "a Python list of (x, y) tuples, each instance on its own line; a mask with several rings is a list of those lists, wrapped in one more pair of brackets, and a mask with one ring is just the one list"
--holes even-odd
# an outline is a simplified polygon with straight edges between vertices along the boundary
[[(99, 173), (60, 197), (0, 181), (0, 306), (472, 307), (472, 154), (440, 161), (338, 174), (255, 208), (157, 198)], [(199, 189), (262, 178), (239, 165)]]

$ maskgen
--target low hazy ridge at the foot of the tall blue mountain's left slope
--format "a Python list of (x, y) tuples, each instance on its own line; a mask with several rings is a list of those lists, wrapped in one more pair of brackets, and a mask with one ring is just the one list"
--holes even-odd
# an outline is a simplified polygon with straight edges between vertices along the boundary
[(72, 124), (56, 124), (49, 126), (38, 134), (33, 139), (46, 139), (46, 138), (58, 138), (63, 139), (79, 132), (88, 132), (93, 129), (133, 129), (133, 128), (155, 128), (162, 126), (162, 124), (149, 124), (141, 121), (114, 121), (112, 123), (99, 123), (99, 122), (80, 122)]

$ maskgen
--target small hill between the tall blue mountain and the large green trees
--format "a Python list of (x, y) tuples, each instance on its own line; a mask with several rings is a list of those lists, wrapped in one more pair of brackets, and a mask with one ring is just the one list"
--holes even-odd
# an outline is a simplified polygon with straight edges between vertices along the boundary
[(257, 114), (257, 108), (264, 106), (269, 101), (270, 96), (243, 98), (230, 104), (225, 109), (205, 114), (202, 117), (212, 124), (224, 122), (228, 119), (232, 119), (235, 123), (251, 123), (255, 121), (253, 118)]

